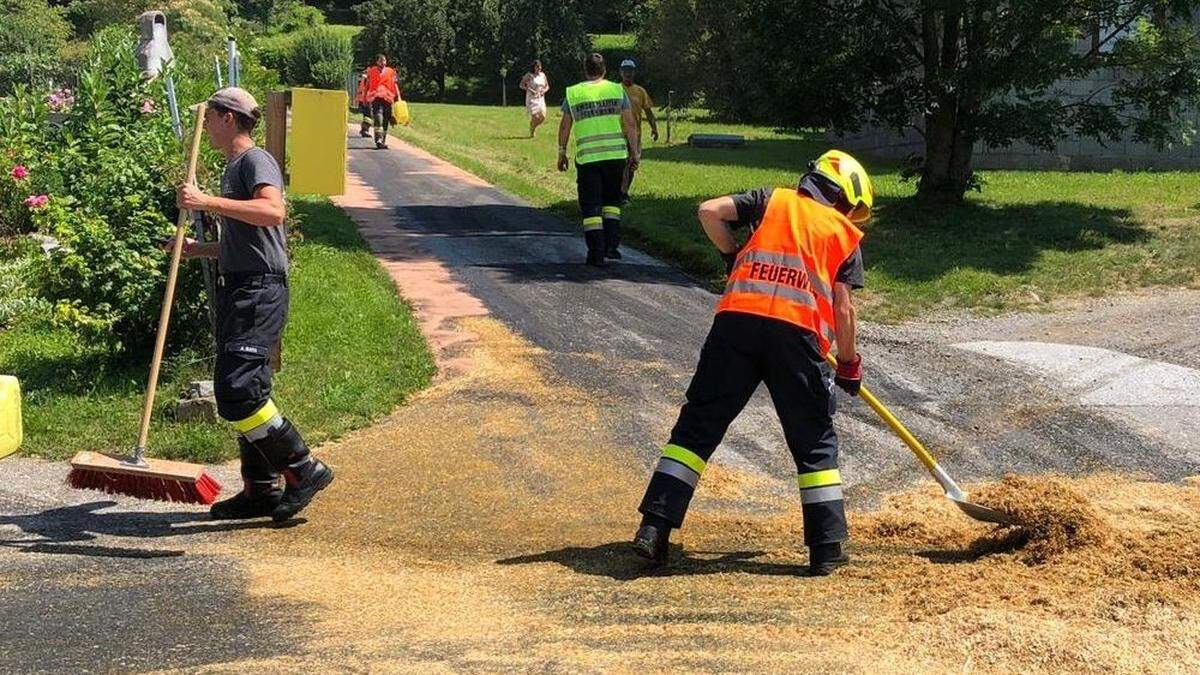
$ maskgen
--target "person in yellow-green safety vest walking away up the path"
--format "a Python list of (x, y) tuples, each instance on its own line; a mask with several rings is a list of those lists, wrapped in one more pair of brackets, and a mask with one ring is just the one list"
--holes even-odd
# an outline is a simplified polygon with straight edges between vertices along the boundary
[(570, 161), (566, 144), (575, 129), (575, 169), (583, 215), (587, 263), (602, 267), (620, 258), (620, 203), (625, 167), (641, 161), (637, 123), (620, 84), (605, 79), (600, 54), (583, 61), (587, 79), (566, 89), (558, 126), (558, 171)]

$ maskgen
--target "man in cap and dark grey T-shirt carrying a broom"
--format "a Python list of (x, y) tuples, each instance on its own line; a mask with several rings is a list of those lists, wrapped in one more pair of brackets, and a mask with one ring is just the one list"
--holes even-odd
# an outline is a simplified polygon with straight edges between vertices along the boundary
[(209, 98), (204, 130), (226, 157), (221, 196), (184, 185), (178, 203), (223, 221), (220, 241), (184, 243), (185, 258), (217, 258), (212, 381), (217, 412), (238, 431), (241, 452), (244, 489), (212, 504), (211, 514), (220, 520), (271, 516), (282, 522), (326, 488), (334, 472), (312, 456), (300, 431), (271, 399), (270, 348), (288, 316), (287, 204), (280, 165), (250, 136), (260, 117), (254, 97), (242, 89), (229, 86)]

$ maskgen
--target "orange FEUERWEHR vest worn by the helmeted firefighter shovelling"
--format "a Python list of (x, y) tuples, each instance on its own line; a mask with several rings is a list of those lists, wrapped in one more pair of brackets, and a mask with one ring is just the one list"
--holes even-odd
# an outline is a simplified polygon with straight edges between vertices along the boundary
[(738, 253), (716, 311), (793, 323), (816, 335), (827, 354), (836, 325), (834, 280), (862, 239), (863, 232), (835, 209), (776, 187), (758, 229)]

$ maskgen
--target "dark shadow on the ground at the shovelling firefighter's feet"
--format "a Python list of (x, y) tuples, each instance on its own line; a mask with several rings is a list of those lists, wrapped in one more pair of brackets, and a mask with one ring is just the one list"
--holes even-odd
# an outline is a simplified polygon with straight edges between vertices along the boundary
[(541, 554), (523, 555), (496, 561), (497, 565), (532, 565), (553, 562), (590, 577), (606, 577), (630, 581), (642, 577), (690, 577), (703, 574), (763, 574), (770, 577), (808, 577), (808, 565), (760, 562), (764, 551), (684, 551), (672, 544), (666, 566), (638, 557), (628, 542), (612, 542), (596, 546), (566, 546)]

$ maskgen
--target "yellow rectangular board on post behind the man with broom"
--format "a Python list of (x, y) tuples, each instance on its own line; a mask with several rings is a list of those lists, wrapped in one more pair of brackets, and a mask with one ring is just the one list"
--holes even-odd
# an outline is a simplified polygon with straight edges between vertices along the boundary
[(346, 192), (347, 95), (342, 90), (292, 90), (289, 189), (299, 195)]

